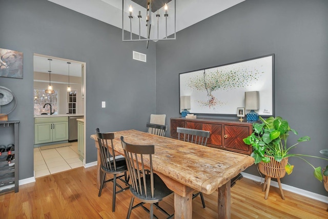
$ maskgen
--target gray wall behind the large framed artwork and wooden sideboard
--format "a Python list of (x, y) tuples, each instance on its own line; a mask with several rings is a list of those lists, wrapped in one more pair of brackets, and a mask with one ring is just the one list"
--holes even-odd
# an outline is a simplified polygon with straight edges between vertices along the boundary
[[(328, 147), (327, 21), (326, 0), (247, 0), (178, 32), (176, 41), (156, 43), (157, 113), (166, 113), (167, 123), (179, 116), (179, 73), (275, 53), (275, 114), (311, 137), (295, 152), (320, 156)], [(290, 163), (294, 171), (282, 183), (327, 194), (311, 166), (294, 157)], [(255, 166), (246, 172), (258, 175)]]

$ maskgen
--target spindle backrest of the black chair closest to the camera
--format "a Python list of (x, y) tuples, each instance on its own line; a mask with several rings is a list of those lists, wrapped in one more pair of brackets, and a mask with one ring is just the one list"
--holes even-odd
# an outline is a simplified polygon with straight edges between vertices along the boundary
[[(128, 171), (131, 177), (131, 186), (134, 191), (143, 197), (154, 198), (154, 174), (152, 154), (155, 153), (154, 145), (134, 145), (124, 141), (121, 136), (121, 143), (124, 149)], [(150, 164), (147, 166), (150, 172), (145, 171), (144, 157), (149, 156)], [(133, 160), (135, 159), (135, 161)], [(149, 182), (147, 182), (149, 181)], [(150, 188), (147, 185), (150, 184)]]

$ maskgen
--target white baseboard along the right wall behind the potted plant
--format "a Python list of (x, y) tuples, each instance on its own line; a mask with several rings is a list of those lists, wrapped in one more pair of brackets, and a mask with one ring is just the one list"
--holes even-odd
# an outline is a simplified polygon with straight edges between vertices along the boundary
[[(244, 172), (241, 172), (241, 174), (242, 174), (243, 177), (249, 178), (250, 180), (254, 180), (256, 182), (262, 182), (263, 181), (263, 178), (260, 177), (260, 176), (255, 176), (255, 175), (252, 175), (252, 174), (249, 174), (249, 173), (244, 173)], [(279, 185), (276, 181), (271, 181), (270, 186), (274, 186), (274, 187), (279, 188)], [(285, 185), (285, 184), (281, 184), (281, 187), (282, 187), (283, 190), (294, 192), (296, 194), (303, 195), (305, 197), (313, 198), (314, 200), (318, 200), (320, 202), (328, 203), (328, 197), (327, 196), (320, 195), (320, 194), (317, 194), (317, 193), (314, 193), (314, 192), (309, 192), (309, 191), (306, 191), (304, 189), (299, 189), (299, 188), (289, 186), (289, 185)]]

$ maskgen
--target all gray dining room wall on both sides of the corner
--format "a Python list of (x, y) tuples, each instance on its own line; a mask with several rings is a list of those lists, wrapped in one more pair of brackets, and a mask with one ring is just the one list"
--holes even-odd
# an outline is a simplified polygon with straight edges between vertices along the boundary
[[(96, 161), (88, 137), (96, 127), (144, 130), (151, 113), (167, 114), (167, 124), (179, 116), (179, 73), (271, 53), (276, 59), (276, 115), (312, 138), (297, 152), (319, 155), (327, 147), (322, 136), (328, 108), (325, 0), (247, 0), (178, 32), (176, 41), (157, 42), (156, 50), (154, 43), (149, 49), (144, 42), (123, 43), (118, 28), (46, 0), (0, 3), (0, 48), (24, 53), (24, 79), (0, 77), (0, 86), (17, 96), (9, 119), (20, 120), (20, 179), (33, 176), (33, 53), (87, 63), (87, 163)], [(148, 62), (132, 61), (132, 50), (146, 53)], [(101, 101), (107, 108), (101, 108)], [(309, 165), (297, 158), (290, 162), (294, 172), (282, 183), (326, 195)], [(258, 174), (255, 167), (247, 172)]]

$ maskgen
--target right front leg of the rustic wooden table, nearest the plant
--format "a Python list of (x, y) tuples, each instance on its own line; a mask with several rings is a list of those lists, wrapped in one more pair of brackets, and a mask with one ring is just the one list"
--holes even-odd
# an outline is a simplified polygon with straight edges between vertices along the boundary
[(230, 186), (231, 181), (229, 180), (226, 184), (219, 187), (218, 194), (218, 215), (219, 218), (230, 218), (230, 205), (231, 205), (231, 196), (230, 196)]

